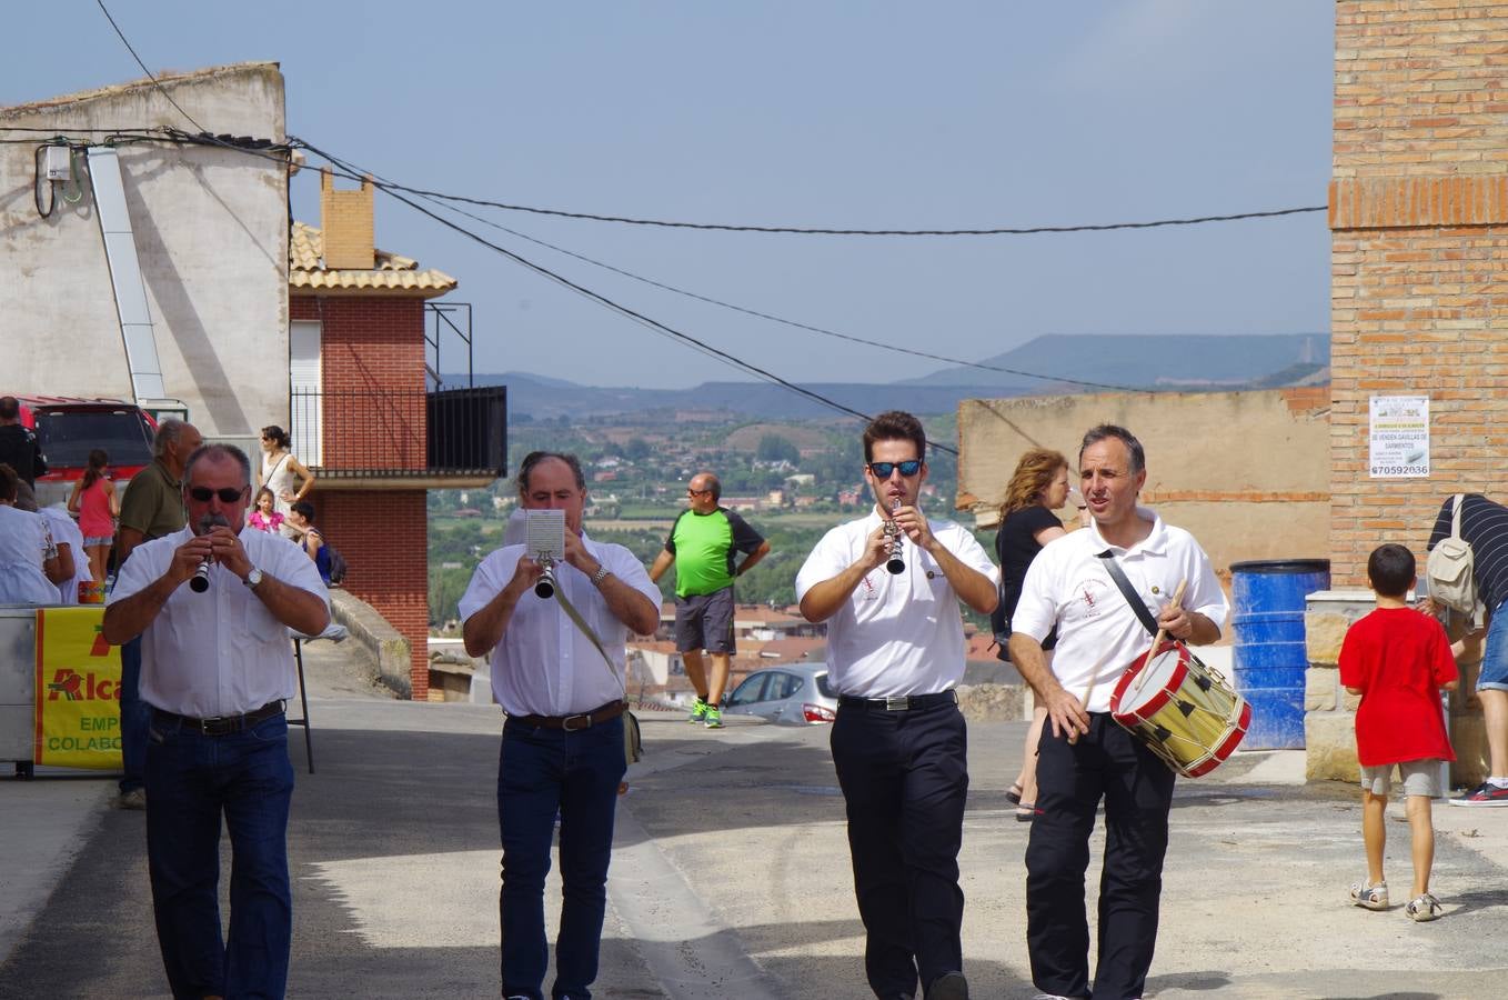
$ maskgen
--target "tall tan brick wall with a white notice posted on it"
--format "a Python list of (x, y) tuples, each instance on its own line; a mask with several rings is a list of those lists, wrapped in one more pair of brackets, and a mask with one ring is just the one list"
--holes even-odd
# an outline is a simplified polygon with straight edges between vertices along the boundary
[[(1440, 501), (1500, 492), (1508, 445), (1508, 3), (1336, 3), (1332, 228), (1335, 587)], [(1368, 477), (1371, 395), (1428, 395), (1428, 480)]]

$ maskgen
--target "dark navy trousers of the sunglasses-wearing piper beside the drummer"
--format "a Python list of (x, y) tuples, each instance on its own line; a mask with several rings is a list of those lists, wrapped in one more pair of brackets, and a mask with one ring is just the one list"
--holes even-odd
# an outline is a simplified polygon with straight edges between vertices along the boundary
[(958, 852), (968, 733), (952, 700), (887, 712), (840, 706), (832, 763), (847, 804), (864, 971), (876, 997), (917, 995), (964, 967)]

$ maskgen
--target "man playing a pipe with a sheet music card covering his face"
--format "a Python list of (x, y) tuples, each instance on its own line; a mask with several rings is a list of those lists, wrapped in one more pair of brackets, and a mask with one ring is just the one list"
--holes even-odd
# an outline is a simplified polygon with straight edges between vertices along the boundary
[[(552, 995), (588, 997), (626, 769), (624, 644), (630, 629), (651, 635), (659, 627), (661, 593), (632, 552), (582, 534), (587, 480), (575, 456), (528, 454), (519, 466), (519, 501), (525, 510), (566, 511), (556, 594), (534, 591), (543, 567), (523, 544), (508, 544), (481, 561), (460, 600), (466, 652), (492, 655), (492, 692), (508, 713), (498, 757), (502, 995), (544, 995), (544, 875), (559, 814), (561, 925)], [(600, 650), (562, 600), (600, 640)]]

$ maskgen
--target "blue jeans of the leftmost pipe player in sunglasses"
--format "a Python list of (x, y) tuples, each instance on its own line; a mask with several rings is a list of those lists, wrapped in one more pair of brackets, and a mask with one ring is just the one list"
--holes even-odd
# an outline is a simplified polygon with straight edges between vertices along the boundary
[[(282, 997), (293, 940), (288, 719), (205, 736), (152, 718), (146, 858), (173, 997)], [(220, 814), (231, 833), (231, 934), (220, 940)]]

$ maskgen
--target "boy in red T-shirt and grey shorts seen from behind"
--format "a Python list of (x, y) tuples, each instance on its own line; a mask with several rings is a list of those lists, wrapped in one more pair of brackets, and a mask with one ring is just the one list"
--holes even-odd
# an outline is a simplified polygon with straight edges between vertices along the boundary
[(1413, 893), (1404, 913), (1410, 920), (1436, 920), (1445, 911), (1430, 894), (1434, 827), (1430, 799), (1440, 795), (1442, 760), (1455, 760), (1445, 733), (1440, 691), (1455, 688), (1455, 659), (1445, 629), (1405, 603), (1415, 584), (1413, 552), (1384, 544), (1366, 560), (1366, 579), (1377, 611), (1351, 626), (1341, 644), (1341, 683), (1362, 695), (1356, 710), (1356, 759), (1362, 765), (1362, 839), (1366, 879), (1351, 885), (1351, 902), (1387, 910), (1383, 878), (1384, 814), (1393, 765), (1408, 796), (1413, 834)]

